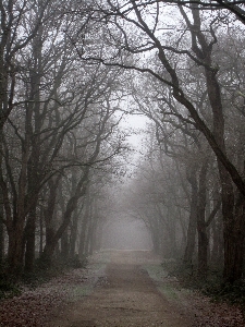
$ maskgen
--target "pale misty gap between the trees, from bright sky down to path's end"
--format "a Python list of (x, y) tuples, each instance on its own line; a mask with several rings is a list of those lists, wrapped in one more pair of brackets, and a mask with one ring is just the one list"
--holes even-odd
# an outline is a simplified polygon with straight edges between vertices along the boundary
[[(144, 130), (149, 119), (143, 114), (131, 114), (124, 117), (120, 126), (123, 130), (131, 130), (127, 143), (134, 149), (127, 162), (127, 173), (131, 174), (135, 169), (135, 161), (143, 150)], [(127, 199), (124, 195), (130, 187), (130, 179), (124, 177), (123, 184), (115, 184), (112, 187), (111, 197), (113, 198), (111, 210), (108, 213), (107, 222), (102, 229), (101, 249), (113, 250), (152, 250), (152, 242), (149, 230), (143, 220), (133, 219), (126, 213)], [(110, 206), (109, 205), (109, 206)]]

